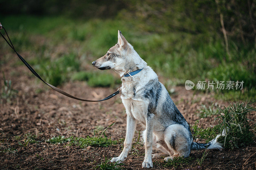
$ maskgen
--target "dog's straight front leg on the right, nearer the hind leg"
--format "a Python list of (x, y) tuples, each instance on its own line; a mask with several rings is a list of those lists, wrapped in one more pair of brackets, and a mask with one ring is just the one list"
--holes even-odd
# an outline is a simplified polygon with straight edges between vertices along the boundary
[(153, 144), (153, 121), (154, 114), (150, 114), (146, 119), (146, 140), (145, 144), (145, 158), (142, 162), (142, 168), (150, 168), (153, 167), (152, 162), (152, 144)]

